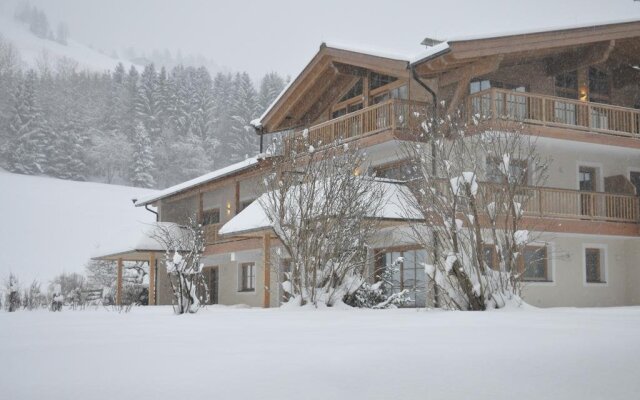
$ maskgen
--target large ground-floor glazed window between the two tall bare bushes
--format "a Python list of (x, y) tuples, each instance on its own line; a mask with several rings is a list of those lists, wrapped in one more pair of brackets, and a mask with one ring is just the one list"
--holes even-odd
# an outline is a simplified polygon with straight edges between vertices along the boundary
[(399, 293), (406, 289), (411, 299), (408, 306), (424, 307), (427, 297), (426, 261), (427, 252), (424, 249), (380, 250), (376, 258), (376, 275), (379, 277), (384, 268), (394, 268), (391, 292)]

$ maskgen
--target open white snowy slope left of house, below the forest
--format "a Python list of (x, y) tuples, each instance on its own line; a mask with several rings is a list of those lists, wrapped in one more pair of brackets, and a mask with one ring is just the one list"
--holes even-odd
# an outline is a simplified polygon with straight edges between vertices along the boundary
[(155, 221), (131, 202), (152, 192), (0, 170), (0, 280), (10, 271), (24, 283), (83, 272), (97, 249), (117, 241), (117, 232)]

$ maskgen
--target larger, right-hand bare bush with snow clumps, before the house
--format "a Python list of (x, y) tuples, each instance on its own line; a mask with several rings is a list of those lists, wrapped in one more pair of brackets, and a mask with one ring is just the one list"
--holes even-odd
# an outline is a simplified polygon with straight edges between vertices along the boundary
[(519, 304), (521, 254), (535, 241), (522, 227), (533, 196), (527, 188), (543, 184), (548, 164), (533, 139), (513, 125), (487, 131), (468, 125), (461, 112), (431, 116), (422, 125), (429, 130), (416, 134), (430, 145), (407, 143), (404, 149), (417, 172), (405, 208), (424, 218), (412, 226), (413, 239), (432, 257), (425, 273), (436, 288), (435, 305), (486, 310)]

